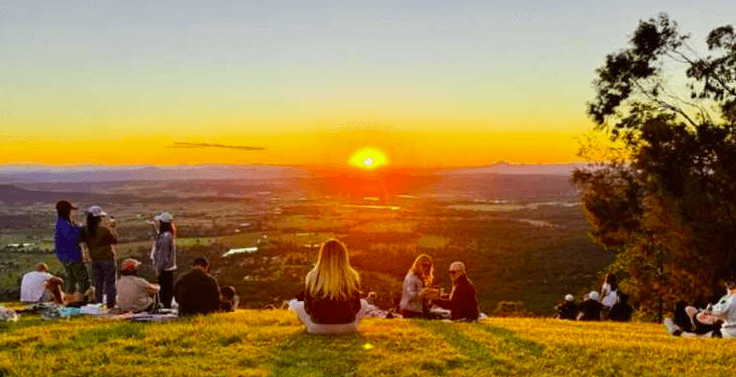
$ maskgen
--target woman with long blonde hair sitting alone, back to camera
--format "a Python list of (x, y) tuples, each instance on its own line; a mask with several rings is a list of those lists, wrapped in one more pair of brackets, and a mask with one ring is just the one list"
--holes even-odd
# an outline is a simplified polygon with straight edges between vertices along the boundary
[(358, 331), (367, 305), (360, 299), (360, 278), (350, 266), (347, 248), (335, 239), (322, 244), (304, 281), (304, 301), (289, 303), (307, 332), (319, 334)]

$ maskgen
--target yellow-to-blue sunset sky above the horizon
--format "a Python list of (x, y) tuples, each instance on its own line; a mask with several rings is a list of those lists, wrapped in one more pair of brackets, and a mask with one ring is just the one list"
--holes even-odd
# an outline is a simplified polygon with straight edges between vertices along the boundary
[(705, 51), (736, 3), (0, 0), (0, 164), (580, 161), (595, 69), (660, 12)]

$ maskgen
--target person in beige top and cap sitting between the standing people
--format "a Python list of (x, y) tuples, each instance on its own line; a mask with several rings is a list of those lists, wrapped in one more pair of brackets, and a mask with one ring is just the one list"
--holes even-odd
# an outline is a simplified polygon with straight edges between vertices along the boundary
[(128, 258), (123, 261), (117, 282), (117, 307), (124, 312), (150, 312), (154, 309), (155, 295), (161, 287), (138, 277), (141, 263)]

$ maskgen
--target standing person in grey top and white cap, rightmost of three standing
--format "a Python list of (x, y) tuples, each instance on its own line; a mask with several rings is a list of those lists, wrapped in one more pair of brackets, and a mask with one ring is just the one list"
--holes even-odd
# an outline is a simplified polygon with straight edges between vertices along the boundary
[(174, 297), (174, 271), (176, 270), (176, 227), (173, 223), (174, 217), (168, 212), (156, 216), (154, 220), (157, 222), (158, 232), (153, 244), (151, 259), (156, 271), (156, 280), (161, 286), (161, 305), (170, 309), (171, 300)]

